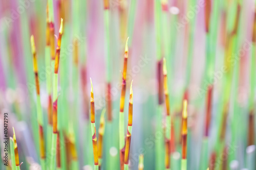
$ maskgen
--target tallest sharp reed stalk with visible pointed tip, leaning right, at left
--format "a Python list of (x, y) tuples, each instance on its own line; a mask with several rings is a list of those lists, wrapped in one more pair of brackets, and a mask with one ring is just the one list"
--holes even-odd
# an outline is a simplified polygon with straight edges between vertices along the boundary
[(58, 68), (59, 68), (59, 55), (60, 55), (60, 46), (61, 46), (61, 37), (63, 32), (63, 19), (61, 18), (60, 28), (59, 28), (59, 36), (57, 40), (56, 47), (56, 56), (55, 56), (55, 64), (54, 64), (54, 75), (53, 75), (53, 133), (52, 133), (52, 149), (51, 149), (51, 159), (50, 159), (50, 170), (55, 169), (55, 161), (56, 161), (56, 148), (57, 148), (57, 113), (58, 113)]

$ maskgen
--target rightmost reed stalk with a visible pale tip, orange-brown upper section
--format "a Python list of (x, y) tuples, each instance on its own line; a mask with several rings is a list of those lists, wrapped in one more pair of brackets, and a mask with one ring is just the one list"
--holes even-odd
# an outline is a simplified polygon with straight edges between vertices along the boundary
[(183, 101), (182, 111), (182, 159), (181, 170), (187, 169), (187, 101)]

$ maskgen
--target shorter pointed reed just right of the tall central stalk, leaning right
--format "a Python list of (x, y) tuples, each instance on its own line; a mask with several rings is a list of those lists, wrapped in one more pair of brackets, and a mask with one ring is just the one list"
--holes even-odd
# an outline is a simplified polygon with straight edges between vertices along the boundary
[(129, 154), (131, 147), (131, 139), (132, 139), (132, 128), (133, 128), (133, 81), (130, 87), (130, 99), (129, 99), (129, 113), (128, 113), (128, 125), (127, 125), (127, 134), (126, 134), (126, 143), (125, 143), (125, 151), (124, 151), (124, 169), (129, 169)]

